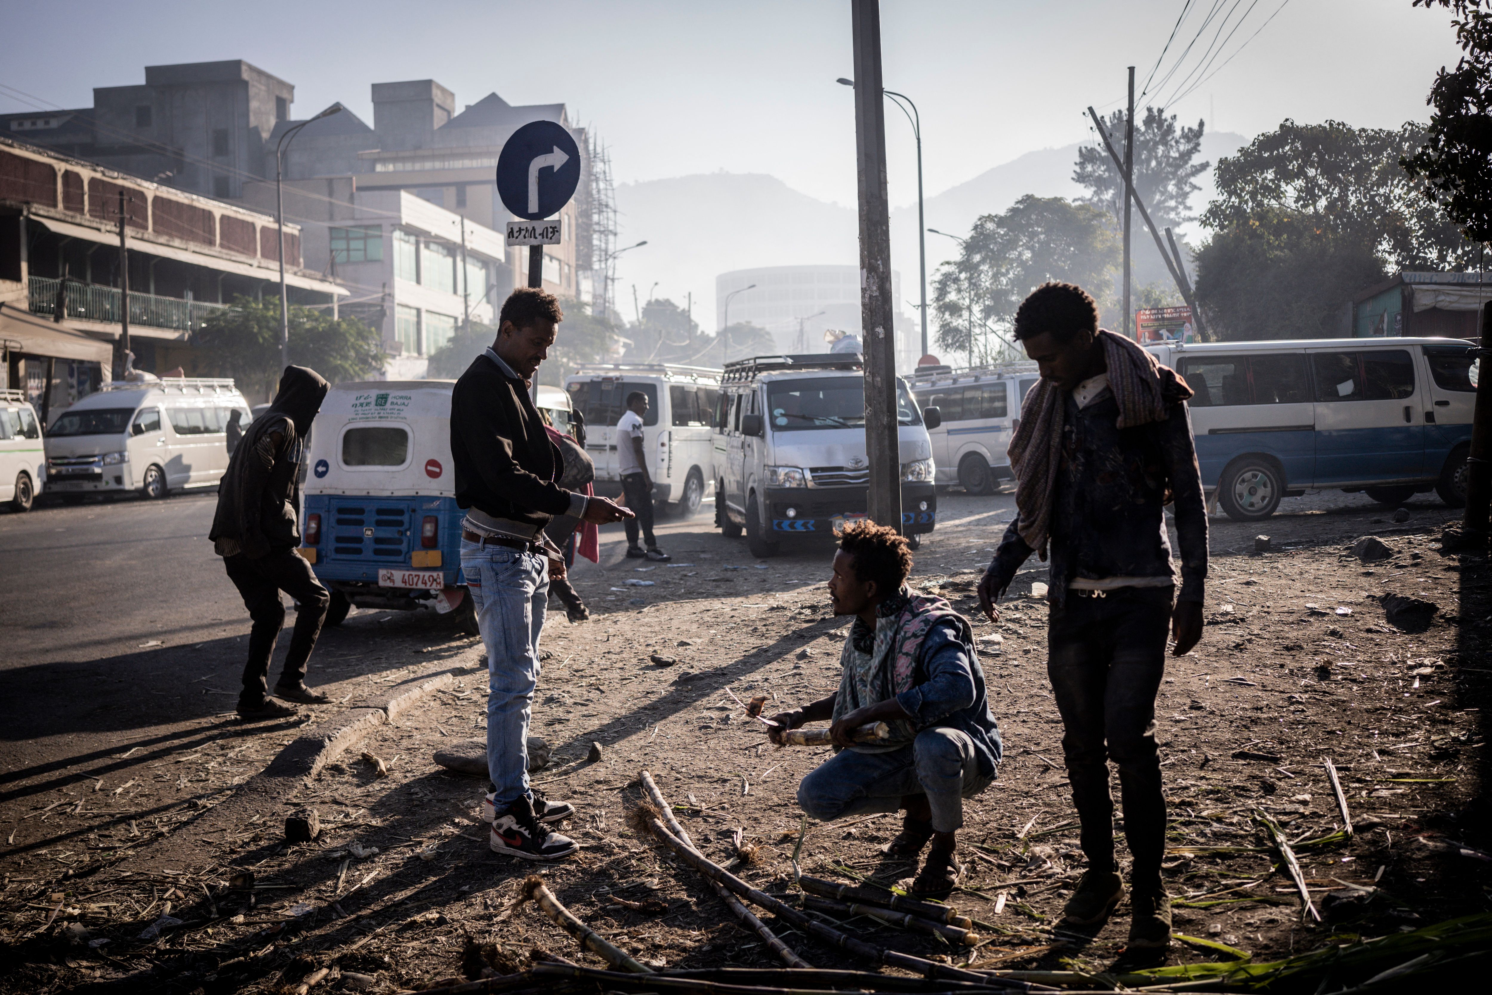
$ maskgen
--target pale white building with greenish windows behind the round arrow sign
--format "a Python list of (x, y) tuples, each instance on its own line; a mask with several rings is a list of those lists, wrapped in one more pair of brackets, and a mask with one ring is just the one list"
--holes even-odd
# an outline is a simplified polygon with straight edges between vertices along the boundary
[[(349, 291), (343, 313), (382, 331), (382, 376), (421, 379), (458, 327), (495, 324), (513, 286), (504, 237), (412, 191), (366, 189), (364, 179), (288, 181), (285, 215), (300, 219), (304, 258)], [(243, 192), (245, 203), (275, 206), (275, 183)]]

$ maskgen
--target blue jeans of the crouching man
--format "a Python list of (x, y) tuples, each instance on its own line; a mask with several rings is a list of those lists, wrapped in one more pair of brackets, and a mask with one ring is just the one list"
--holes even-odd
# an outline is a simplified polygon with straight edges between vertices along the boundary
[(925, 794), (932, 828), (953, 832), (964, 826), (964, 798), (973, 798), (992, 780), (979, 773), (967, 732), (932, 726), (900, 750), (840, 750), (798, 785), (798, 807), (828, 822), (862, 812), (895, 812), (904, 795)]

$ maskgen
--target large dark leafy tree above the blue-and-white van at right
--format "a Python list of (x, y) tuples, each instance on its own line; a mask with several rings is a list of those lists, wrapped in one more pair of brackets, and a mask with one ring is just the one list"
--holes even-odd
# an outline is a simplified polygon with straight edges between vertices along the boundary
[(1337, 334), (1353, 294), (1391, 270), (1458, 269), (1474, 248), (1399, 166), (1397, 131), (1286, 119), (1217, 164), (1197, 298), (1222, 339)]

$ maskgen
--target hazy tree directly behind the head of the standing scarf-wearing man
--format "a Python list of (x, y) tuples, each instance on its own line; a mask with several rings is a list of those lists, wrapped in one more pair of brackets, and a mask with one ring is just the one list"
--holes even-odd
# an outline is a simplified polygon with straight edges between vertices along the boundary
[(952, 263), (932, 280), (938, 346), (971, 362), (1009, 354), (1009, 334), (1026, 294), (1047, 280), (1077, 283), (1104, 300), (1119, 264), (1107, 215), (1062, 197), (1025, 195), (1003, 215), (983, 215)]

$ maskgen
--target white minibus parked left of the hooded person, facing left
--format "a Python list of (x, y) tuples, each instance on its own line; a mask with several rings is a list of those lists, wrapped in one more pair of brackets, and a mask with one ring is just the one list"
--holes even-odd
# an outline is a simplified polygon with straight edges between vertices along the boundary
[(46, 430), (48, 489), (64, 500), (139, 491), (148, 498), (215, 488), (228, 470), (233, 412), (249, 404), (231, 379), (115, 380), (52, 418)]

